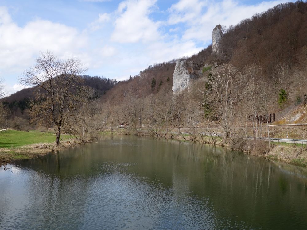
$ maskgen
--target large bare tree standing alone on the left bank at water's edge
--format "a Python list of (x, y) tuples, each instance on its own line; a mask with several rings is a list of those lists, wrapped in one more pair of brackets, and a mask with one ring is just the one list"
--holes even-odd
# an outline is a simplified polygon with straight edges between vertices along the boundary
[(36, 101), (31, 113), (36, 121), (56, 125), (56, 145), (60, 144), (61, 128), (76, 106), (73, 90), (81, 82), (80, 74), (87, 71), (78, 58), (65, 61), (57, 59), (53, 52), (41, 52), (36, 64), (25, 71), (19, 82), (25, 86), (36, 86)]

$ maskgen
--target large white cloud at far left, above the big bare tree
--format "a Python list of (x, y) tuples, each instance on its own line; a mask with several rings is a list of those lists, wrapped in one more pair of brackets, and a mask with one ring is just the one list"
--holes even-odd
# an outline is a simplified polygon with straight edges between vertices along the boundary
[(73, 56), (86, 47), (87, 37), (76, 29), (45, 20), (19, 27), (6, 8), (0, 8), (0, 66), (21, 73), (41, 50), (52, 50), (60, 58)]

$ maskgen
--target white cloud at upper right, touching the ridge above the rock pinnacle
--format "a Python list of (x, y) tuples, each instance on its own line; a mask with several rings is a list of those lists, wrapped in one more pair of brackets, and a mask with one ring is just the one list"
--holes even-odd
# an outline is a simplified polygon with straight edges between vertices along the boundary
[[(192, 2), (191, 2), (192, 1)], [(170, 25), (185, 23), (183, 40), (209, 42), (212, 29), (218, 25), (234, 25), (255, 13), (261, 13), (287, 0), (261, 2), (254, 5), (243, 5), (234, 0), (221, 2), (201, 0), (180, 0), (169, 8)], [(239, 12), (239, 13), (238, 13)]]

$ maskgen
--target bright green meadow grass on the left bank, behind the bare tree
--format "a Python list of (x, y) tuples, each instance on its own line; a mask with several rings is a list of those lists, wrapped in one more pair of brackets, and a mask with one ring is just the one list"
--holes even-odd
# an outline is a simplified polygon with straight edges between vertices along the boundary
[[(61, 135), (60, 139), (70, 138), (68, 135)], [(0, 133), (0, 148), (20, 147), (28, 144), (52, 143), (56, 135), (53, 133), (24, 132), (17, 130), (6, 130)]]

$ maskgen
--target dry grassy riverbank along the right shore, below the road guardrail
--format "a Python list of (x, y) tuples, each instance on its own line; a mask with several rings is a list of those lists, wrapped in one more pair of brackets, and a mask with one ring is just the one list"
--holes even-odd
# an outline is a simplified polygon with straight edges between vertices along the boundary
[[(116, 134), (121, 135), (137, 135), (137, 136), (157, 136), (153, 132), (149, 131), (135, 131), (121, 129)], [(157, 137), (166, 139), (175, 139), (178, 141), (190, 141), (199, 144), (214, 144), (224, 148), (242, 151), (247, 155), (254, 155), (258, 157), (264, 157), (271, 160), (282, 161), (291, 163), (298, 166), (307, 167), (307, 147), (305, 144), (289, 144), (289, 143), (278, 143), (271, 142), (269, 148), (268, 142), (249, 140), (249, 146), (246, 144), (246, 140), (237, 139), (229, 143), (225, 143), (222, 137), (218, 136), (200, 136), (200, 135), (189, 135), (189, 134), (175, 134), (160, 133)]]

